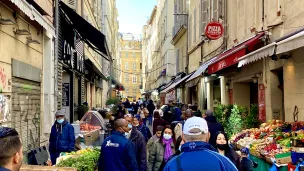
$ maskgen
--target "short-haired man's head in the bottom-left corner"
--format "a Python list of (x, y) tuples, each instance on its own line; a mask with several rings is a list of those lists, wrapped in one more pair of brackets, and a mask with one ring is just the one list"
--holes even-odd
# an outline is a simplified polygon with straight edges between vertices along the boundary
[(0, 171), (19, 171), (22, 162), (22, 142), (18, 132), (0, 127)]

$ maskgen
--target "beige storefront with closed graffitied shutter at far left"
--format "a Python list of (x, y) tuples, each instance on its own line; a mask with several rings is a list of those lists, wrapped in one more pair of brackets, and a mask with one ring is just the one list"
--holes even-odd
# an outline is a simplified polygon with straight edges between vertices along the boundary
[(1, 1), (0, 11), (0, 126), (15, 128), (27, 151), (40, 146), (48, 132), (44, 121), (54, 116), (48, 73), (55, 65), (48, 60), (54, 58), (55, 31), (27, 1)]

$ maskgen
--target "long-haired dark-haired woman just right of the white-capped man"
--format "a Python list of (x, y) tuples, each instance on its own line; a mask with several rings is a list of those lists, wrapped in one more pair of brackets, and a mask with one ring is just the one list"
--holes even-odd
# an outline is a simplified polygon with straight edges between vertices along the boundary
[(229, 147), (228, 137), (222, 131), (215, 133), (215, 142), (218, 152), (230, 159), (230, 161), (240, 170), (240, 156)]

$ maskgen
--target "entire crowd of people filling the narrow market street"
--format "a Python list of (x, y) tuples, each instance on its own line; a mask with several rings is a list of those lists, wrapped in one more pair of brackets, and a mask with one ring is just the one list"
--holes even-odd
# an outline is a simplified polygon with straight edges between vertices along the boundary
[[(57, 111), (49, 152), (55, 164), (60, 152), (74, 149), (74, 129)], [(164, 108), (152, 100), (120, 102), (113, 131), (101, 146), (100, 171), (250, 171), (248, 149), (241, 155), (228, 143), (223, 126), (211, 110), (203, 114), (195, 105)], [(23, 160), (18, 132), (0, 127), (0, 171), (18, 171)]]

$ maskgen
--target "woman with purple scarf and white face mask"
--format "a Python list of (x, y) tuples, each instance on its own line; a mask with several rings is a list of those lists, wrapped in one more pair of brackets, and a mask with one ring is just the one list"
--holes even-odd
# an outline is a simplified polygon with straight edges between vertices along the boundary
[(162, 171), (171, 156), (175, 153), (175, 135), (171, 126), (164, 127), (158, 142), (149, 152), (148, 171)]

